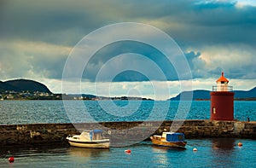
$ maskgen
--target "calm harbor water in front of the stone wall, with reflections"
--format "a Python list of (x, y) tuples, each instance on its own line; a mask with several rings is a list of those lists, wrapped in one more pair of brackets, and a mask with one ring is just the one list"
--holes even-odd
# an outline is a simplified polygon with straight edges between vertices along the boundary
[[(0, 167), (256, 167), (256, 141), (235, 138), (187, 141), (187, 148), (156, 147), (151, 142), (109, 149), (5, 147), (0, 151)], [(238, 147), (238, 142), (243, 146)], [(128, 148), (131, 154), (125, 154)], [(14, 163), (9, 163), (8, 151), (15, 157)]]

